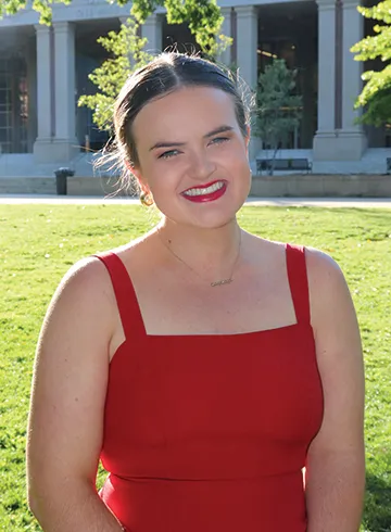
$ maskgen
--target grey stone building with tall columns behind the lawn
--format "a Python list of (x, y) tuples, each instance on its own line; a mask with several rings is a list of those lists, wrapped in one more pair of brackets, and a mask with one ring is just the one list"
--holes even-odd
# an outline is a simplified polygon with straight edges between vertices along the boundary
[[(303, 119), (283, 151), (307, 156), (315, 172), (384, 173), (390, 136), (355, 123), (363, 64), (350, 48), (371, 30), (356, 0), (256, 0), (251, 5), (219, 0), (219, 5), (224, 34), (234, 37), (222, 61), (238, 65), (251, 87), (273, 56), (299, 69)], [(97, 38), (119, 29), (128, 12), (129, 4), (72, 0), (53, 7), (51, 27), (39, 25), (29, 9), (0, 21), (0, 177), (52, 175), (70, 164), (92, 172), (83, 166), (86, 136), (91, 148), (101, 147), (105, 137), (77, 99), (94, 91), (88, 74), (105, 56)], [(193, 42), (188, 28), (167, 25), (163, 11), (141, 31), (153, 51)], [(254, 140), (252, 161), (261, 151)]]

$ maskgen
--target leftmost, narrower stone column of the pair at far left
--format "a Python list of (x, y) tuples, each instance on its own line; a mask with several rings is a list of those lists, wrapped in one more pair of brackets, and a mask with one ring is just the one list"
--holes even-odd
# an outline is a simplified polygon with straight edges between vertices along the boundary
[(34, 155), (37, 163), (48, 161), (52, 130), (52, 29), (49, 26), (36, 26), (37, 36), (37, 139)]

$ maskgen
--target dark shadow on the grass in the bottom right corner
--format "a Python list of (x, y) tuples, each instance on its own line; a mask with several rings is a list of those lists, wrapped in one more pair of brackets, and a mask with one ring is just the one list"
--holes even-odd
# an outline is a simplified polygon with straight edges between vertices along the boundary
[(391, 483), (373, 473), (366, 476), (363, 524), (366, 532), (391, 532)]

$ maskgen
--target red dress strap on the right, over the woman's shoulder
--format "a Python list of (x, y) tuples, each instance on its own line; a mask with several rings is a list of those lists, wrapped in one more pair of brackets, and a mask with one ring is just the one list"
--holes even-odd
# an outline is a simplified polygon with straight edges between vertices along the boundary
[(310, 291), (303, 245), (286, 244), (288, 280), (298, 324), (310, 322)]

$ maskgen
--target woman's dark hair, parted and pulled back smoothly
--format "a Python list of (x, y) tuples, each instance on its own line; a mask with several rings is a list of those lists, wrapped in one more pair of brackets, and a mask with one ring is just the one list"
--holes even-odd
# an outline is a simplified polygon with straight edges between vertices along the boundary
[(250, 122), (234, 76), (216, 64), (197, 55), (164, 52), (129, 76), (114, 105), (115, 148), (122, 163), (139, 164), (131, 125), (150, 101), (179, 87), (214, 87), (231, 96), (236, 117), (243, 137)]

